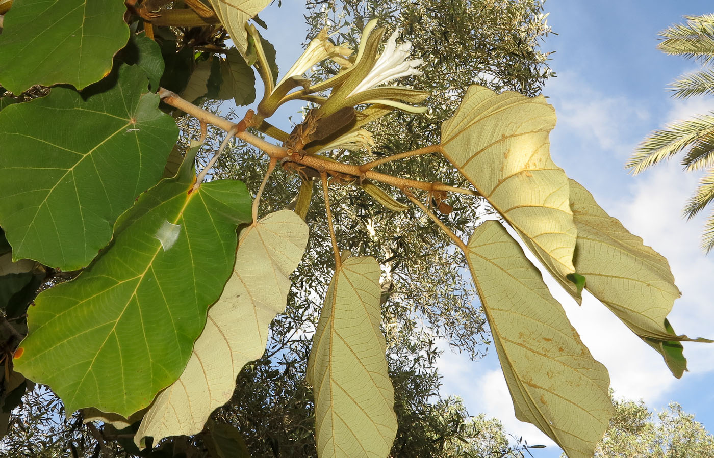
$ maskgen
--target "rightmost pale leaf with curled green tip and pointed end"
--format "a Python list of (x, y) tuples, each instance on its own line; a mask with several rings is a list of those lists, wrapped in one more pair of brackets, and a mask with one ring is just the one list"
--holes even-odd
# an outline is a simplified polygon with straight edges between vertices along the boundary
[(710, 341), (676, 335), (668, 326), (666, 317), (681, 294), (669, 263), (605, 213), (575, 180), (570, 180), (570, 207), (578, 228), (575, 269), (585, 275), (585, 289), (660, 352), (675, 377), (682, 377), (686, 360), (677, 341)]

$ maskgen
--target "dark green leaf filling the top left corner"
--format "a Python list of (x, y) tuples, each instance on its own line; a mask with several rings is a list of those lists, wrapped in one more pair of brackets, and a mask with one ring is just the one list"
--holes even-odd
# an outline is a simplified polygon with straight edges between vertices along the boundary
[(121, 1), (16, 1), (0, 35), (0, 82), (19, 94), (34, 84), (99, 81), (129, 39), (125, 12)]

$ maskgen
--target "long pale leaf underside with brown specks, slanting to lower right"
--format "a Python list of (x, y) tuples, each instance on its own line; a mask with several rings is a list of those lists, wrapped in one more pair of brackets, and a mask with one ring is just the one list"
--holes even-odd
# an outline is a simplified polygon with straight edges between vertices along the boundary
[(497, 221), (476, 228), (466, 260), (516, 417), (570, 458), (591, 458), (608, 428), (610, 377), (580, 341), (540, 272)]

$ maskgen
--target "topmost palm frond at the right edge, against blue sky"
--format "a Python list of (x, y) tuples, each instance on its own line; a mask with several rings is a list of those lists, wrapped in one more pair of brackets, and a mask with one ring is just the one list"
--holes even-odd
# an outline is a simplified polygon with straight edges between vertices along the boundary
[(659, 33), (658, 49), (667, 54), (708, 63), (714, 58), (714, 14), (684, 16), (687, 24), (670, 26)]

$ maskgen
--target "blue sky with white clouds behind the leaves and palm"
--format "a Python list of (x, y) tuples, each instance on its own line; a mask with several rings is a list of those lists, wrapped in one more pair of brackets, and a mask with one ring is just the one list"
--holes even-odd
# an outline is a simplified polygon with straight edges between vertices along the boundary
[[(301, 15), (300, 6), (301, 2), (287, 0), (282, 9), (273, 4), (261, 14), (283, 70), (300, 54), (306, 31), (302, 21), (290, 24), (281, 19)], [(669, 97), (668, 83), (697, 67), (655, 49), (658, 31), (683, 21), (685, 14), (714, 12), (714, 5), (684, 0), (548, 0), (545, 11), (558, 34), (549, 35), (543, 44), (545, 51), (557, 51), (550, 66), (558, 77), (548, 81), (543, 91), (558, 113), (558, 125), (550, 136), (553, 160), (625, 228), (668, 258), (683, 291), (670, 314), (675, 330), (690, 337), (713, 337), (714, 253), (707, 257), (698, 248), (701, 218), (688, 223), (681, 218), (697, 177), (684, 175), (676, 160), (637, 177), (628, 175), (623, 164), (653, 129), (714, 110), (711, 97), (688, 101)], [(297, 108), (290, 110), (296, 113)], [(642, 398), (657, 410), (670, 401), (680, 402), (714, 430), (714, 347), (685, 344), (690, 372), (676, 380), (661, 357), (593, 297), (585, 297), (579, 307), (557, 285), (552, 291), (593, 356), (608, 367), (616, 396)], [(538, 429), (514, 417), (495, 352), (471, 362), (447, 350), (440, 367), (443, 395), (461, 395), (472, 414), (486, 412), (501, 419), (511, 434), (549, 446), (533, 450), (534, 457), (559, 456), (560, 450)]]

